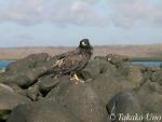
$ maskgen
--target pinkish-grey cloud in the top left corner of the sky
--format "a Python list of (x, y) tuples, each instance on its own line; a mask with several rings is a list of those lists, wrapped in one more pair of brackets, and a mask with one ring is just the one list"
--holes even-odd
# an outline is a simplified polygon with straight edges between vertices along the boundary
[(6, 6), (0, 9), (1, 22), (16, 22), (21, 24), (35, 24), (41, 21), (43, 0), (8, 0)]

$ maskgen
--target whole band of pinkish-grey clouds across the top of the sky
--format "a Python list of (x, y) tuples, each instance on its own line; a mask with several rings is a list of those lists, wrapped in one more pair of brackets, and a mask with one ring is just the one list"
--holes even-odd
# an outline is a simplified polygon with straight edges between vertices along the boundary
[[(102, 1), (106, 10), (96, 9)], [(0, 5), (0, 22), (35, 25), (43, 22), (60, 26), (85, 25), (131, 28), (162, 26), (161, 0), (5, 0)], [(103, 3), (105, 3), (103, 2)], [(109, 11), (109, 12), (106, 12)], [(107, 14), (109, 13), (109, 14)]]

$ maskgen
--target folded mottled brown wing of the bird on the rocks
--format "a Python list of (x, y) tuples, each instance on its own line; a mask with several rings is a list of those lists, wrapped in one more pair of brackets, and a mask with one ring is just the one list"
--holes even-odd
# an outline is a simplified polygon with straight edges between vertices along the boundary
[(53, 67), (55, 73), (67, 73), (76, 70), (81, 70), (87, 63), (85, 55), (76, 54), (69, 55), (64, 58)]

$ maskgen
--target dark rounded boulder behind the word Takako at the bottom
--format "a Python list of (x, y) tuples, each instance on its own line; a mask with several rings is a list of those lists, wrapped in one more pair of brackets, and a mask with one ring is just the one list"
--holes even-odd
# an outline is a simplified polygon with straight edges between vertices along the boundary
[(127, 114), (143, 117), (140, 104), (134, 92), (122, 92), (117, 94), (107, 105), (108, 119), (112, 122), (143, 122), (141, 119), (124, 119)]

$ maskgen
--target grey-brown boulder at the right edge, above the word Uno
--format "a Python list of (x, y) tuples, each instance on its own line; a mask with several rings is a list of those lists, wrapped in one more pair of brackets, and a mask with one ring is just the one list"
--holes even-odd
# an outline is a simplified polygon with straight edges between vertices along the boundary
[(146, 82), (136, 94), (144, 112), (162, 114), (162, 86), (158, 82)]

